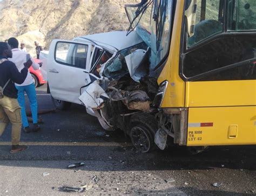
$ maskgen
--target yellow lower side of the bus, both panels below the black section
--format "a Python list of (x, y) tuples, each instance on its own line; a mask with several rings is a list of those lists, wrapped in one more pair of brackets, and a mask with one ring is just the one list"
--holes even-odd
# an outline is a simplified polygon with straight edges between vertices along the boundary
[(186, 107), (187, 145), (256, 144), (255, 80), (186, 82)]

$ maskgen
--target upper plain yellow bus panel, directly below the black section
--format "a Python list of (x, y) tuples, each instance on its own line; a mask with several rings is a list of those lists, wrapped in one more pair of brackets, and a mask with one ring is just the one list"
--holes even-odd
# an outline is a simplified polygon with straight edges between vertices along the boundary
[(256, 80), (186, 82), (186, 107), (256, 106)]

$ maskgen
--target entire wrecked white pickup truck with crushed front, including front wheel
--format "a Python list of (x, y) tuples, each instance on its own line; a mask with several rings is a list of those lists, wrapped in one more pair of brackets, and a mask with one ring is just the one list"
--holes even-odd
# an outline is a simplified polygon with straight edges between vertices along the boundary
[(147, 152), (157, 131), (152, 102), (158, 85), (149, 76), (150, 54), (136, 31), (128, 36), (114, 31), (53, 40), (40, 57), (58, 109), (83, 104), (105, 130), (124, 130), (138, 150)]

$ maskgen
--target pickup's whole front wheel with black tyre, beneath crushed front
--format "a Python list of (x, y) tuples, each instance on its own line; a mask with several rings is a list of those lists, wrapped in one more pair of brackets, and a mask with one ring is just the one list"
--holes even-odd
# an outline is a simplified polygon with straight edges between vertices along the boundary
[(143, 152), (149, 152), (156, 147), (154, 134), (157, 131), (157, 123), (152, 115), (136, 114), (130, 120), (130, 137), (134, 147)]

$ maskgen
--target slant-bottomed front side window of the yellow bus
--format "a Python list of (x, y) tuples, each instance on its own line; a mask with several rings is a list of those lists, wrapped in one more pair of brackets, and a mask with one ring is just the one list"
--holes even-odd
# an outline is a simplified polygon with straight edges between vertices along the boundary
[(223, 32), (224, 1), (198, 0), (194, 34), (188, 37), (187, 47)]

